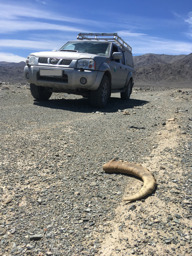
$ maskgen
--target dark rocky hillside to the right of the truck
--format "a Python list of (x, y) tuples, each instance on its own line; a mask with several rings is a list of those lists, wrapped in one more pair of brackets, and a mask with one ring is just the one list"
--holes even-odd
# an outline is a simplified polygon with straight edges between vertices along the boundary
[(192, 84), (189, 55), (144, 54), (133, 57), (136, 84)]

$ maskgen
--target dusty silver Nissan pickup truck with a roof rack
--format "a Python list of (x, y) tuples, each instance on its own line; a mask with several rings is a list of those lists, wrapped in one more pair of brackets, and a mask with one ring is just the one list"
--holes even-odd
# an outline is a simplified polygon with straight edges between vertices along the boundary
[(79, 33), (58, 51), (34, 52), (26, 60), (24, 75), (36, 100), (52, 92), (89, 97), (104, 108), (112, 92), (129, 100), (134, 84), (132, 48), (116, 33)]

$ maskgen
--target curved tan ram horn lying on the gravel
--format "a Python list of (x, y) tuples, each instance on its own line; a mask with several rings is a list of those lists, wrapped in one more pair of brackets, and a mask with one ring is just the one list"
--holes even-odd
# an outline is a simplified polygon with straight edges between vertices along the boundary
[(103, 170), (105, 172), (122, 172), (127, 174), (132, 174), (137, 177), (140, 177), (143, 180), (143, 187), (141, 190), (130, 197), (125, 197), (123, 201), (135, 201), (150, 194), (156, 187), (156, 179), (153, 176), (152, 172), (140, 164), (128, 163), (127, 161), (115, 161), (111, 160), (110, 162), (103, 165)]

